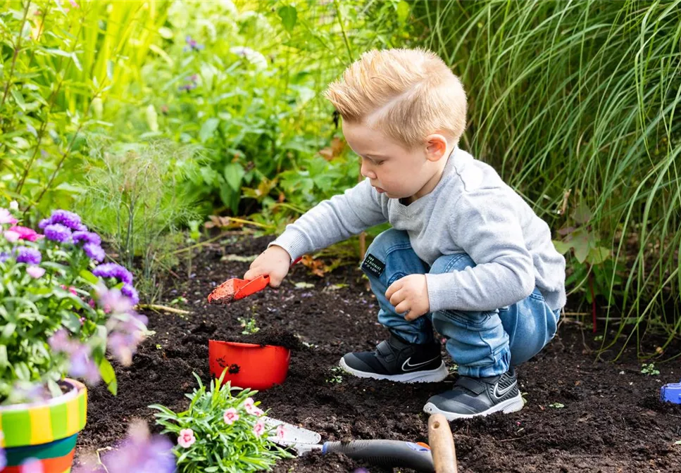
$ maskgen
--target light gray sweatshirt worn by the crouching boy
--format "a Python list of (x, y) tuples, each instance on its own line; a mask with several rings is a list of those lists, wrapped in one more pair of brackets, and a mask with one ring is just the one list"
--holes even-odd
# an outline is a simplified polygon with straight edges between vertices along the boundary
[(408, 206), (379, 194), (366, 179), (319, 203), (270, 245), (292, 260), (390, 222), (409, 235), (428, 265), (468, 253), (475, 267), (427, 274), (430, 311), (494, 310), (529, 296), (535, 286), (552, 310), (566, 303), (565, 258), (551, 231), (489, 165), (454, 149), (435, 189)]

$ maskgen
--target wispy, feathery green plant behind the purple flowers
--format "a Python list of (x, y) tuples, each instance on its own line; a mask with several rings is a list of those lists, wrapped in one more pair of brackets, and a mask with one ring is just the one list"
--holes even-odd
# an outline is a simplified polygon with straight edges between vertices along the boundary
[(196, 167), (196, 150), (167, 141), (123, 145), (104, 139), (92, 141), (89, 150), (78, 204), (123, 264), (137, 268), (139, 289), (153, 299), (161, 289), (156, 275), (177, 261), (178, 229), (196, 218), (184, 185)]

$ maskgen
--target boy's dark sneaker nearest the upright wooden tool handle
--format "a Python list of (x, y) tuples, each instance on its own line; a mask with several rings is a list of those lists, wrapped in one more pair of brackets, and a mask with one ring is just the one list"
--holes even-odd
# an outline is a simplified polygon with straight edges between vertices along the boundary
[(499, 411), (508, 414), (522, 409), (523, 404), (516, 371), (511, 368), (504, 374), (488, 378), (461, 376), (450, 391), (428, 399), (423, 411), (444, 414), (447, 420), (454, 420)]

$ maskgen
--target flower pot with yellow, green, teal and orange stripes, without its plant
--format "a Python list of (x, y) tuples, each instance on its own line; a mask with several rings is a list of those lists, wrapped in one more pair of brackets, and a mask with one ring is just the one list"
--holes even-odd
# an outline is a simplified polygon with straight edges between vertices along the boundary
[(87, 410), (85, 384), (65, 379), (71, 389), (42, 403), (0, 406), (0, 446), (7, 466), (2, 473), (20, 473), (21, 465), (39, 461), (44, 473), (68, 473), (73, 463), (75, 441)]

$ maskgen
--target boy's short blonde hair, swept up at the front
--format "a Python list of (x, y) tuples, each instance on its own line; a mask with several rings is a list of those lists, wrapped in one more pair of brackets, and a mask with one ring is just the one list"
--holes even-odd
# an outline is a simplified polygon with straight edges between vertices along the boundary
[(424, 49), (367, 51), (325, 97), (343, 120), (380, 130), (407, 148), (434, 132), (458, 143), (466, 129), (466, 92), (437, 54)]

